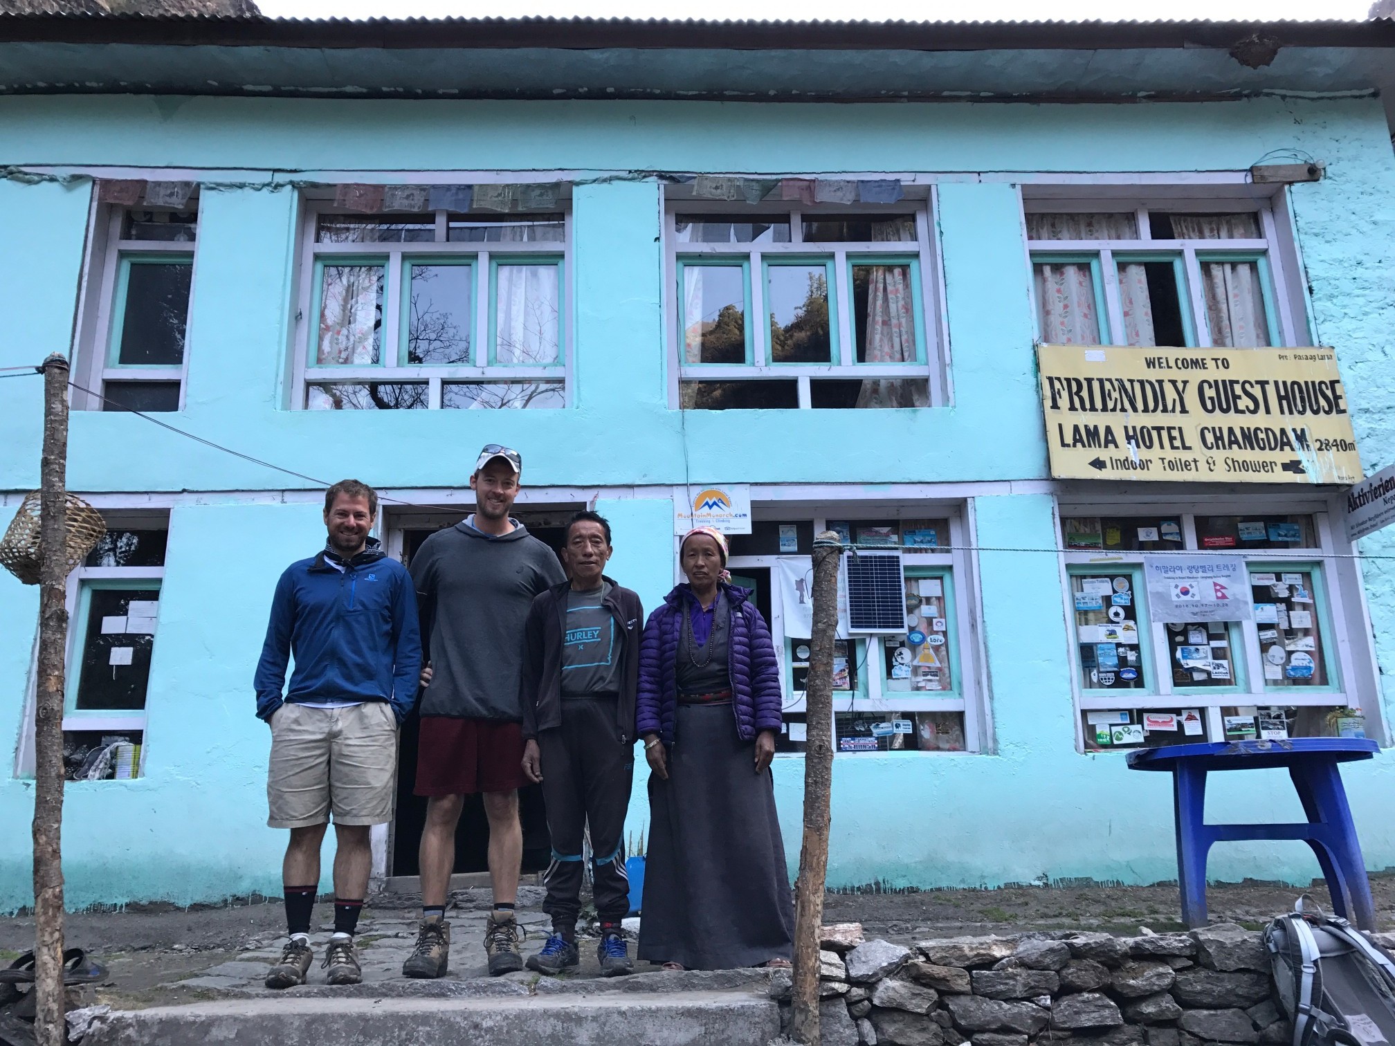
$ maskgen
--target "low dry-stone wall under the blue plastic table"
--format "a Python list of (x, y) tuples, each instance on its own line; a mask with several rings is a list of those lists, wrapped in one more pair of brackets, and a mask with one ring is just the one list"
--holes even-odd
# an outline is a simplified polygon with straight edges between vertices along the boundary
[[(1382, 934), (1384, 936), (1384, 934)], [(1028, 933), (915, 947), (824, 927), (824, 1046), (1283, 1046), (1258, 932)], [(1388, 941), (1380, 941), (1388, 944)], [(790, 973), (770, 986), (788, 1014)]]

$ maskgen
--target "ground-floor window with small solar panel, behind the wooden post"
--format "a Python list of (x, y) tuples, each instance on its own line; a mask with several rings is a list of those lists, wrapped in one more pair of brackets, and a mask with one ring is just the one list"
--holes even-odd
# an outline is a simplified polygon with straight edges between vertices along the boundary
[[(751, 534), (731, 536), (735, 584), (755, 590), (783, 651), (784, 753), (804, 752), (808, 736), (809, 583), (815, 533), (829, 529), (848, 544), (898, 549), (904, 568), (904, 629), (896, 635), (847, 633), (845, 584), (840, 579), (840, 637), (834, 644), (834, 743), (840, 753), (965, 752), (985, 746), (972, 664), (972, 625), (965, 605), (971, 563), (956, 540), (958, 515), (903, 508), (901, 516), (854, 516), (852, 506), (798, 515), (777, 503)], [(865, 512), (865, 509), (862, 509)], [(921, 515), (923, 512), (923, 515)], [(914, 513), (914, 515), (912, 515)], [(852, 517), (850, 517), (852, 516)], [(850, 554), (851, 555), (851, 554)]]

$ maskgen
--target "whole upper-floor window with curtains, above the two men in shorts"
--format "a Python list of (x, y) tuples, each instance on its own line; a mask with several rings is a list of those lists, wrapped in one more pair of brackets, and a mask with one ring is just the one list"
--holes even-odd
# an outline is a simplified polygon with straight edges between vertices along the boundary
[(566, 406), (565, 213), (306, 215), (296, 406)]

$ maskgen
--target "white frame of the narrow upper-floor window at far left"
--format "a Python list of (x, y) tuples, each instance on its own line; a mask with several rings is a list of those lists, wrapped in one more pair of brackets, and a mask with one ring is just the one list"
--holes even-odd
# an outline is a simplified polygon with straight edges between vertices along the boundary
[[(179, 409), (184, 410), (184, 396), (188, 389), (186, 377), (188, 374), (190, 339), (188, 319), (194, 312), (194, 294), (198, 287), (198, 225), (193, 241), (170, 243), (165, 240), (123, 240), (121, 225), (133, 211), (156, 211), (162, 213), (184, 213), (194, 211), (201, 213), (201, 197), (190, 198), (186, 208), (169, 206), (126, 206), (114, 204), (98, 204), (96, 192), (92, 194), (92, 209), (88, 218), (88, 247), (82, 266), (82, 279), (78, 290), (78, 317), (75, 325), (77, 365), (73, 368), (73, 378), (78, 385), (91, 389), (93, 393), (71, 389), (71, 404), (74, 410), (102, 410), (102, 395), (106, 393), (109, 381), (149, 381), (172, 382), (180, 385)], [(142, 364), (114, 364), (112, 361), (112, 339), (116, 335), (113, 322), (117, 315), (124, 315), (124, 307), (117, 303), (116, 293), (120, 287), (121, 259), (126, 255), (190, 255), (190, 296), (188, 314), (184, 317), (184, 360), (179, 367), (152, 367)]]

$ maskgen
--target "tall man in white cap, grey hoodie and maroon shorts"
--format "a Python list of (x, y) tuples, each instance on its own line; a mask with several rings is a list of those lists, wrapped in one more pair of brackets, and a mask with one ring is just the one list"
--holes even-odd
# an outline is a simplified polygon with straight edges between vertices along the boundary
[(455, 827), (466, 795), (484, 794), (490, 821), (494, 909), (484, 934), (490, 973), (523, 969), (513, 916), (523, 830), (519, 674), (523, 625), (533, 597), (566, 580), (557, 555), (509, 517), (519, 494), (518, 450), (488, 444), (474, 463), (476, 510), (428, 537), (412, 558), (421, 619), (421, 735), (416, 794), (427, 796), (421, 831), (421, 930), (402, 967), (438, 978), (451, 961), (446, 891), (455, 866)]

